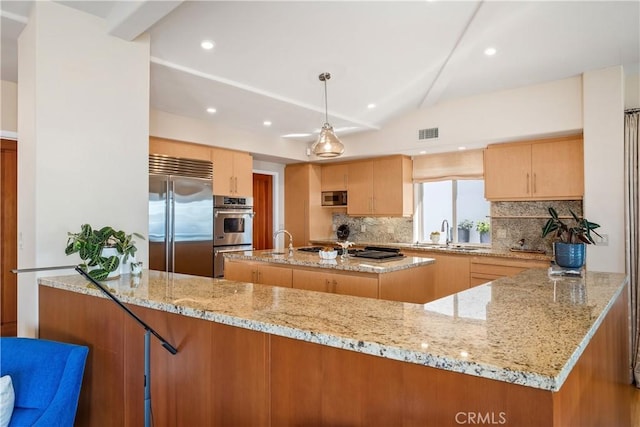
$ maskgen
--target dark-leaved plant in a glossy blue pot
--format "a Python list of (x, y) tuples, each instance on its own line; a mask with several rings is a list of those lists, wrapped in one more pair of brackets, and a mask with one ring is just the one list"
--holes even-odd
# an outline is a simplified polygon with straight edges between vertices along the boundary
[[(569, 209), (575, 224), (566, 224), (552, 207), (549, 208), (551, 218), (542, 227), (542, 237), (554, 233), (556, 241), (553, 243), (553, 253), (556, 264), (564, 268), (581, 268), (585, 263), (586, 245), (596, 244), (592, 233), (600, 236), (595, 229), (600, 225), (580, 218)], [(602, 237), (602, 236), (600, 236)]]

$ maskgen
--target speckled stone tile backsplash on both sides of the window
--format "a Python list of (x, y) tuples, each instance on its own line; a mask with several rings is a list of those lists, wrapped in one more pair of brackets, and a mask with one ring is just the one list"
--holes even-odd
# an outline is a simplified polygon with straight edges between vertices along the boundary
[[(542, 239), (542, 227), (549, 218), (552, 206), (560, 216), (569, 216), (569, 209), (582, 216), (582, 200), (537, 201), (537, 202), (492, 202), (491, 203), (491, 247), (507, 251), (520, 247), (524, 239), (525, 249), (544, 250), (552, 253), (553, 239)], [(413, 219), (395, 217), (351, 217), (345, 213), (333, 214), (333, 226), (347, 224), (349, 240), (370, 243), (411, 243)], [(334, 237), (334, 236), (332, 236)], [(337, 236), (335, 236), (337, 239)]]

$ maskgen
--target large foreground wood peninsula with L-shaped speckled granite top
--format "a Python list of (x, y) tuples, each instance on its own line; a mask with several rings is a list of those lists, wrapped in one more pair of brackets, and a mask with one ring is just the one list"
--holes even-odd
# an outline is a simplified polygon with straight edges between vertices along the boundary
[[(79, 425), (140, 425), (143, 331), (80, 276), (40, 336), (90, 347)], [(152, 345), (155, 425), (629, 424), (620, 274), (527, 270), (429, 304), (145, 271), (107, 282)], [(471, 422), (473, 421), (473, 422)]]

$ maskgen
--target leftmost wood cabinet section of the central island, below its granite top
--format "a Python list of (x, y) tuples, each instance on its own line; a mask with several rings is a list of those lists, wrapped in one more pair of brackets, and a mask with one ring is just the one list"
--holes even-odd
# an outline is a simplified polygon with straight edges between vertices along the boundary
[(251, 261), (224, 261), (224, 278), (238, 282), (291, 287), (291, 268)]

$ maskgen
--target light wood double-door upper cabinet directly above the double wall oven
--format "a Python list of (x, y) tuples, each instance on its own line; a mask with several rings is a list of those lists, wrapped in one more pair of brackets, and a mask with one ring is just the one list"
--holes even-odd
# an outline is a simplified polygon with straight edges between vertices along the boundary
[(253, 158), (240, 151), (211, 149), (213, 194), (250, 197), (253, 195)]

